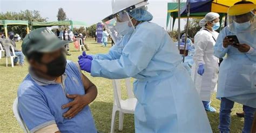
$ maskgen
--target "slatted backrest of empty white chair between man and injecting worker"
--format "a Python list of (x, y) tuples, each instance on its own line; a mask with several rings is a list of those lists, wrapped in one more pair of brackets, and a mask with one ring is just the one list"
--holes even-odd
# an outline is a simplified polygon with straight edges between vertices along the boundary
[[(121, 107), (120, 101), (122, 100), (122, 94), (121, 94), (121, 79), (113, 79), (113, 92), (114, 92), (114, 102), (116, 102), (117, 107)], [(131, 78), (125, 79), (125, 87), (126, 92), (129, 98), (134, 98), (134, 94), (131, 89)]]

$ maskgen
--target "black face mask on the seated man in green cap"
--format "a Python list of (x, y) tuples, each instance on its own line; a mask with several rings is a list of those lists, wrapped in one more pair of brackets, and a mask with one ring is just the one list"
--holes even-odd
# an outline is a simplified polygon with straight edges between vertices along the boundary
[(45, 63), (48, 71), (46, 74), (51, 77), (59, 77), (62, 76), (66, 70), (66, 57), (64, 54), (61, 54), (55, 60)]

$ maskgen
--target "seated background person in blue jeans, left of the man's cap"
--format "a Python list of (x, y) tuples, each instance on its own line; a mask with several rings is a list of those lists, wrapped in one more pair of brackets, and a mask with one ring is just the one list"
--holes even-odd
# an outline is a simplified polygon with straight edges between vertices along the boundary
[[(24, 55), (22, 54), (21, 50), (18, 50), (16, 48), (16, 43), (14, 41), (14, 32), (9, 32), (9, 38), (5, 40), (5, 43), (9, 43), (10, 45), (14, 46), (15, 55), (17, 56), (14, 58), (14, 65), (24, 66)], [(10, 52), (12, 54), (11, 48)]]

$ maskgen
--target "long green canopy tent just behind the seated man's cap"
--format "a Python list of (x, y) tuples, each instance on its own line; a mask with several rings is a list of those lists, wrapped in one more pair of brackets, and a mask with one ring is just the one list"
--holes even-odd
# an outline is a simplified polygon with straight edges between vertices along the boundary
[(38, 22), (38, 21), (33, 21), (31, 23), (32, 28), (41, 28), (41, 27), (51, 27), (51, 26), (71, 26), (71, 29), (73, 30), (73, 26), (84, 26), (86, 27), (87, 24), (83, 21), (51, 21), (51, 22)]

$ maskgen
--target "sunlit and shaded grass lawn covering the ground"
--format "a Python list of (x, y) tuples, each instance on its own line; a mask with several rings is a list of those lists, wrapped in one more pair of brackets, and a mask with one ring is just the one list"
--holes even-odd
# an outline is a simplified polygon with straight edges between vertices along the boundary
[[(87, 54), (97, 54), (97, 53), (107, 53), (110, 49), (109, 47), (103, 48), (99, 44), (95, 43), (93, 39), (87, 40), (87, 44), (90, 47), (90, 51)], [(17, 47), (21, 49), (21, 42), (17, 43)], [(81, 54), (79, 51), (76, 51), (73, 47), (73, 44), (70, 44), (71, 56), (68, 56), (68, 60), (77, 61), (77, 57)], [(22, 82), (23, 78), (28, 74), (28, 63), (24, 67), (5, 67), (5, 58), (0, 60), (0, 132), (22, 132), (19, 127), (14, 114), (12, 113), (12, 104), (17, 97), (17, 88)], [(84, 72), (85, 73), (85, 72)], [(93, 117), (96, 122), (96, 127), (100, 132), (110, 132), (111, 127), (111, 114), (113, 106), (113, 91), (112, 91), (112, 82), (109, 79), (104, 78), (93, 78), (88, 73), (85, 73), (87, 77), (96, 84), (98, 88), (98, 97), (90, 105)], [(124, 83), (123, 83), (124, 84)], [(126, 98), (124, 88), (122, 89), (123, 98)], [(187, 101), (187, 104), (190, 104)], [(212, 97), (212, 106), (219, 110), (220, 101), (215, 99), (215, 95)], [(187, 111), (189, 112), (190, 108)], [(232, 112), (232, 123), (231, 131), (232, 132), (241, 132), (244, 119), (240, 119), (235, 116), (235, 112), (240, 112), (242, 106), (235, 104)], [(117, 115), (118, 117), (118, 115)], [(219, 112), (217, 113), (208, 113), (208, 118), (211, 122), (213, 132), (218, 132), (219, 124)], [(134, 119), (133, 115), (125, 115), (124, 117), (124, 129), (123, 131), (118, 131), (118, 118), (116, 118), (116, 131), (115, 132), (134, 132)], [(186, 125), (184, 125), (186, 128)]]

